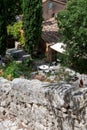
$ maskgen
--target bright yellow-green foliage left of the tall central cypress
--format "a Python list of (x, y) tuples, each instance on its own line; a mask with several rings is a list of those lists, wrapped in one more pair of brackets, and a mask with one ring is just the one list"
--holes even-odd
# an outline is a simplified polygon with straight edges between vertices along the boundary
[(22, 21), (15, 22), (13, 25), (7, 26), (8, 35), (12, 35), (14, 39), (18, 40), (22, 46), (25, 44), (24, 35), (21, 35)]

